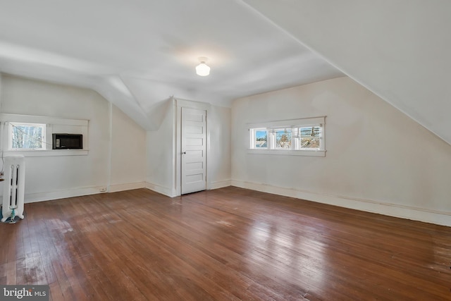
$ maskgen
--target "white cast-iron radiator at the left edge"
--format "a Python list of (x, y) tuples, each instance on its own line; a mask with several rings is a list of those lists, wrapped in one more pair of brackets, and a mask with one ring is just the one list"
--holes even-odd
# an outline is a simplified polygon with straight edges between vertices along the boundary
[[(19, 216), (23, 219), (23, 198), (25, 195), (25, 157), (22, 155), (5, 156), (3, 187), (3, 218)], [(14, 211), (13, 211), (14, 210)]]

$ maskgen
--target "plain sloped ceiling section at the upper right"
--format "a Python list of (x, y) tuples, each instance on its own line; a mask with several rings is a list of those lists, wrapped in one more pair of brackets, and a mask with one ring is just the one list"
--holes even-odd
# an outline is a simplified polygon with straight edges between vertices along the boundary
[(451, 145), (451, 1), (245, 2)]

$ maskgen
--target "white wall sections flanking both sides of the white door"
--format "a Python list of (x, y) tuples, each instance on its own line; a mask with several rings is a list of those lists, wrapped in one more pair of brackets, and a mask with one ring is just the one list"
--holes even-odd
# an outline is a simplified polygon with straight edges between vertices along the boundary
[[(207, 189), (216, 189), (230, 185), (230, 109), (206, 106), (209, 107), (206, 117), (209, 133)], [(176, 178), (180, 174), (177, 168), (181, 152), (177, 150), (180, 143), (176, 140), (178, 109), (175, 99), (168, 100), (160, 128), (147, 132), (146, 187), (171, 197), (180, 195), (180, 179)]]

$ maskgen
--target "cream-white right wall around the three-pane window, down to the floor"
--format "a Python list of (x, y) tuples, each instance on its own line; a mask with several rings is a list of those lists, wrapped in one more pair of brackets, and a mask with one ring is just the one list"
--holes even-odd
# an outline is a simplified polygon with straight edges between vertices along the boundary
[[(326, 157), (247, 154), (246, 123), (326, 117)], [(350, 78), (237, 99), (232, 183), (451, 226), (451, 146)]]

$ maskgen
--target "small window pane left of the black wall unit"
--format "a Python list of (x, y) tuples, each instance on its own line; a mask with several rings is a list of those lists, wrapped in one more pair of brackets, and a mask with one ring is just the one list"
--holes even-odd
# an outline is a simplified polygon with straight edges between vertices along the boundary
[(42, 123), (9, 123), (9, 149), (46, 149), (46, 125)]

